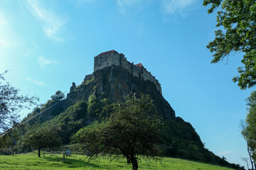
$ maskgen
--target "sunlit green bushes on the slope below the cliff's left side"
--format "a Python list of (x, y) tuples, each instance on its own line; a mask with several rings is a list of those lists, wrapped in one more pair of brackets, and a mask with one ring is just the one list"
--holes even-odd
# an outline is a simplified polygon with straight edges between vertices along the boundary
[[(70, 137), (75, 134), (75, 132), (78, 132), (80, 128), (85, 127), (93, 120), (97, 119), (97, 114), (99, 114), (102, 111), (102, 108), (108, 103), (110, 102), (107, 99), (98, 100), (94, 96), (90, 96), (90, 98), (88, 98), (88, 103), (86, 101), (79, 101), (78, 103), (75, 103), (75, 105), (68, 107), (62, 113), (60, 113), (60, 111), (63, 111), (61, 105), (54, 106), (50, 112), (43, 113), (38, 117), (33, 118), (27, 125), (28, 127), (38, 127), (41, 123), (59, 125), (60, 130), (58, 135), (60, 135), (62, 142), (66, 144), (70, 142)], [(46, 104), (34, 108), (33, 112), (28, 114), (23, 121), (40, 113), (43, 109), (46, 109), (53, 104), (55, 104), (55, 99), (51, 99)], [(48, 120), (49, 118), (50, 120)], [(20, 135), (24, 135), (25, 133), (26, 128), (25, 130), (23, 129), (20, 131)]]

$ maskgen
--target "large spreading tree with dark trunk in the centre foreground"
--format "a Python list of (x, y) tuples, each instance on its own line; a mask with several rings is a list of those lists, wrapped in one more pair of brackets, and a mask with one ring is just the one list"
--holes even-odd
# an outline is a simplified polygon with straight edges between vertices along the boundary
[(82, 128), (75, 141), (82, 144), (84, 152), (90, 152), (91, 158), (97, 158), (98, 154), (122, 154), (133, 170), (138, 169), (139, 155), (156, 159), (160, 153), (156, 143), (161, 123), (151, 102), (149, 96), (142, 95), (113, 103), (110, 118)]

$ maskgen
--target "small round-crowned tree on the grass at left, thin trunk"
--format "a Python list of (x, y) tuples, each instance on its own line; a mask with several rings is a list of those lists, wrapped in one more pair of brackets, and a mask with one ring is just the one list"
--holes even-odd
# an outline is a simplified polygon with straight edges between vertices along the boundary
[(58, 147), (61, 145), (60, 137), (58, 137), (59, 127), (56, 125), (44, 124), (38, 128), (26, 132), (25, 143), (38, 149), (38, 157), (41, 157), (41, 149), (48, 147)]

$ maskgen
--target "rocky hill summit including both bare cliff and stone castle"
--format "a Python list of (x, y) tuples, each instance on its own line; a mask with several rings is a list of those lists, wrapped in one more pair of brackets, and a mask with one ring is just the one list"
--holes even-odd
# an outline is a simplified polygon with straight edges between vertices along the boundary
[(67, 96), (68, 106), (77, 101), (87, 101), (90, 95), (98, 99), (108, 98), (112, 102), (122, 101), (131, 93), (149, 94), (162, 118), (175, 120), (175, 111), (161, 94), (161, 84), (144, 66), (129, 62), (115, 50), (97, 55), (94, 72), (86, 75), (80, 86), (70, 87)]

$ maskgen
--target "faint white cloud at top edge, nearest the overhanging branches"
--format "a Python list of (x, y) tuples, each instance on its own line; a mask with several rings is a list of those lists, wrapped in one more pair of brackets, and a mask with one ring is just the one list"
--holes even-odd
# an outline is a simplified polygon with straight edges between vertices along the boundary
[(173, 15), (175, 13), (184, 15), (197, 0), (162, 0), (164, 13)]

